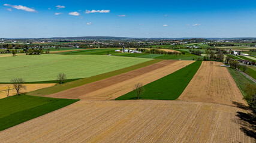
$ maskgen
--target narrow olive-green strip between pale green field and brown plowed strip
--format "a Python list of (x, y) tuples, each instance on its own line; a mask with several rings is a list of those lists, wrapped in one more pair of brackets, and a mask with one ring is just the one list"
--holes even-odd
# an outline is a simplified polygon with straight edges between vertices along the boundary
[(62, 85), (55, 85), (55, 86), (52, 86), (52, 87), (49, 87), (49, 88), (39, 89), (37, 91), (28, 92), (27, 94), (28, 95), (37, 95), (37, 96), (45, 96), (45, 95), (55, 94), (57, 92), (65, 91), (65, 90), (70, 89), (70, 88), (76, 88), (77, 86), (81, 86), (81, 85), (85, 85), (85, 84), (88, 84), (88, 83), (96, 82), (98, 80), (106, 79), (108, 77), (116, 76), (118, 74), (126, 73), (128, 71), (140, 69), (141, 67), (146, 67), (146, 66), (149, 66), (151, 64), (158, 63), (159, 61), (162, 61), (162, 60), (146, 61), (144, 63), (140, 63), (140, 64), (136, 64), (134, 66), (126, 67), (124, 69), (110, 71), (109, 73), (103, 73), (103, 74), (88, 77), (88, 78), (85, 78), (85, 79), (75, 80), (73, 82), (64, 83)]

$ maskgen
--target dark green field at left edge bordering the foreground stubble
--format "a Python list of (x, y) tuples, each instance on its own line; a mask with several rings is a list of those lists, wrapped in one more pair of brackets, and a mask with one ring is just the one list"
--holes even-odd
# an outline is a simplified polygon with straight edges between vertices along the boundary
[(16, 95), (0, 100), (0, 130), (58, 110), (79, 100)]

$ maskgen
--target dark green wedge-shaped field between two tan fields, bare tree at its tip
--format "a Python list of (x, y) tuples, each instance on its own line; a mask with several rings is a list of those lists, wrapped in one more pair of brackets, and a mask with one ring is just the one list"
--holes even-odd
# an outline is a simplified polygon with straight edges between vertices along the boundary
[[(145, 91), (140, 95), (142, 100), (176, 100), (184, 91), (194, 74), (201, 66), (201, 61), (195, 61), (168, 76), (144, 86)], [(122, 95), (116, 100), (135, 100), (135, 91)]]

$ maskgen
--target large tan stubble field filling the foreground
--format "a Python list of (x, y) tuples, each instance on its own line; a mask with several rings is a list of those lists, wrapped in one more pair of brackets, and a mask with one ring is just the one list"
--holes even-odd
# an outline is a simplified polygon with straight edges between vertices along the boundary
[(0, 132), (0, 142), (255, 142), (240, 108), (186, 101), (78, 101)]

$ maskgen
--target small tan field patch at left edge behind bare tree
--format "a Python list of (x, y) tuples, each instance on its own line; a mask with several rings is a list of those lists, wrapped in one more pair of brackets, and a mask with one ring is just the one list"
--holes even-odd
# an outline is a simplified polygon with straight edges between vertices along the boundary
[[(25, 92), (35, 91), (42, 88), (48, 88), (50, 86), (54, 86), (55, 83), (42, 83), (42, 84), (25, 84), (26, 89), (21, 90), (21, 94)], [(0, 84), (0, 99), (7, 97), (8, 86), (10, 86), (9, 95), (16, 95), (16, 90), (13, 88), (11, 84)]]

